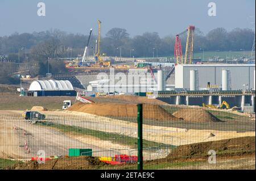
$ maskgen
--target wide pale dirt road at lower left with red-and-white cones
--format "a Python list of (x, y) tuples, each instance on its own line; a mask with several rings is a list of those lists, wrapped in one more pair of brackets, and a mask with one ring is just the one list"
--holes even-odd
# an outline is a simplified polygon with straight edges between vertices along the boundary
[[(92, 148), (94, 151), (106, 150), (105, 146), (96, 146), (90, 142), (66, 136), (54, 129), (38, 127), (20, 118), (20, 113), (0, 111), (0, 157), (31, 158), (39, 150), (44, 150), (46, 157), (50, 155), (68, 155), (68, 148)], [(12, 115), (12, 116), (11, 116)], [(14, 129), (16, 127), (16, 129)], [(25, 148), (27, 142), (28, 150)], [(101, 153), (102, 155), (102, 153)]]

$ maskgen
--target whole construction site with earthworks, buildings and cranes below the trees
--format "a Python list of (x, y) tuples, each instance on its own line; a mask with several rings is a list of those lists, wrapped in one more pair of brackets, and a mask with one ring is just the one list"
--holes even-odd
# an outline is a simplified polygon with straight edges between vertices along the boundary
[(2, 92), (0, 169), (134, 169), (137, 104), (145, 169), (255, 169), (255, 65), (193, 59), (195, 26), (173, 61), (106, 56), (101, 23), (94, 56), (90, 29), (82, 57), (59, 59), (68, 73)]

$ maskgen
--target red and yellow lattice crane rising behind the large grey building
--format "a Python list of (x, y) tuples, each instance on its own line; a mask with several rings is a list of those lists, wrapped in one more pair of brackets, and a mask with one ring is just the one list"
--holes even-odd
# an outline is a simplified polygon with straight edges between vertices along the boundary
[[(192, 64), (194, 31), (195, 31), (195, 26), (189, 26), (187, 30), (176, 35), (175, 45), (174, 45), (174, 57), (176, 59), (176, 64)], [(183, 35), (185, 32), (187, 32), (187, 41), (186, 41), (185, 56), (183, 60), (180, 35)]]

